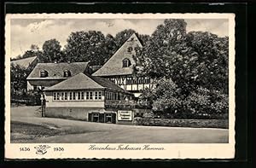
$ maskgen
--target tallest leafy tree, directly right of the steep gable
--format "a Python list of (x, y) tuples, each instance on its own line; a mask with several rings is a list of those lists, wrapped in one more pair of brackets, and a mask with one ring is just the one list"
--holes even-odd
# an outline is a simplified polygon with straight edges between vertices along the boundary
[[(157, 26), (152, 37), (137, 52), (143, 63), (143, 71), (139, 73), (151, 78), (172, 78), (178, 85), (183, 86), (188, 78), (186, 72), (191, 48), (186, 44), (186, 22), (184, 20), (165, 20), (163, 25)], [(191, 61), (194, 61), (193, 59)]]

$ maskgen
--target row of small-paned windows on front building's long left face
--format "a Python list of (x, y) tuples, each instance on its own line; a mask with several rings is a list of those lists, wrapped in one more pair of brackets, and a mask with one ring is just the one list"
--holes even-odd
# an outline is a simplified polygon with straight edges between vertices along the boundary
[(54, 101), (102, 100), (102, 91), (54, 92)]

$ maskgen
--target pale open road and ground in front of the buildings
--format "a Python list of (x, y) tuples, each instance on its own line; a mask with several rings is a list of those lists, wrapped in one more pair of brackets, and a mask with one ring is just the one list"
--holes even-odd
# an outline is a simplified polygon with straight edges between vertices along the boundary
[(11, 108), (11, 142), (226, 143), (227, 129), (114, 125), (42, 118), (39, 107)]

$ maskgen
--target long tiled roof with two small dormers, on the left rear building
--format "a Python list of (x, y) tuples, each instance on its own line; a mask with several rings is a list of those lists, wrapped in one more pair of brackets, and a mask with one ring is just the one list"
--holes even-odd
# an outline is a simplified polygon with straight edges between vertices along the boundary
[(40, 79), (54, 79), (63, 78), (63, 72), (68, 70), (71, 76), (84, 72), (88, 67), (89, 62), (61, 62), (61, 63), (38, 63), (26, 79), (40, 78), (40, 71), (45, 70), (48, 72), (48, 77)]

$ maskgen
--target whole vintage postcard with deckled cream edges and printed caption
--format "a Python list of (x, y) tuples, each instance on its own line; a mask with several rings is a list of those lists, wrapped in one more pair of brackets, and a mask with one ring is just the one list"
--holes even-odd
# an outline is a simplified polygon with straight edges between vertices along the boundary
[(6, 159), (232, 159), (235, 14), (6, 14)]

